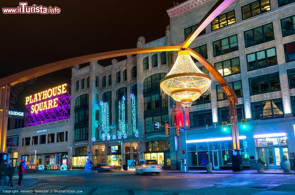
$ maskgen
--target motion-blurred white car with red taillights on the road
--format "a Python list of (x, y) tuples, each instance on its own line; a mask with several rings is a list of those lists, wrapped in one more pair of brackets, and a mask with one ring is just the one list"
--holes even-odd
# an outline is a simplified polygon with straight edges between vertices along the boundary
[(158, 165), (156, 160), (140, 160), (137, 167), (137, 174), (144, 173), (157, 173), (159, 174), (162, 171), (162, 166)]

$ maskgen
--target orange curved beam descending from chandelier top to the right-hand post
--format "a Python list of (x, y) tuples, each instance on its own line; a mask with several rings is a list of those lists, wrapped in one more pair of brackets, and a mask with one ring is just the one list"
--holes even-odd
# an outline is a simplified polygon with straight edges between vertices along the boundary
[(230, 85), (227, 83), (227, 81), (224, 79), (224, 77), (217, 71), (217, 69), (203, 56), (201, 56), (199, 53), (196, 53), (194, 50), (190, 48), (186, 48), (190, 55), (196, 58), (202, 65), (207, 68), (207, 70), (213, 75), (213, 77), (217, 80), (221, 88), (223, 89), (225, 95), (227, 96), (228, 99), (231, 97), (235, 101), (235, 103), (238, 103), (238, 98), (237, 95), (235, 94), (234, 90), (230, 87)]

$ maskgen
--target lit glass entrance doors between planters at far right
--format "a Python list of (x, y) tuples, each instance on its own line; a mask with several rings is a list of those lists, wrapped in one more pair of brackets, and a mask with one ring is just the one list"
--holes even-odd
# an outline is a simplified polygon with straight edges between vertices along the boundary
[(281, 169), (280, 162), (289, 160), (288, 147), (258, 148), (258, 157), (266, 163), (268, 169)]

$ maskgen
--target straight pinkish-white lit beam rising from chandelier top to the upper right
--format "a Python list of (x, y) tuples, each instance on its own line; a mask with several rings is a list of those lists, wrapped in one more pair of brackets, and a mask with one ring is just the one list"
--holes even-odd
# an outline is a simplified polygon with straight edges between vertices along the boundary
[(196, 28), (191, 32), (188, 38), (182, 44), (182, 48), (187, 48), (194, 41), (194, 39), (216, 18), (225, 8), (227, 8), (235, 0), (219, 0), (217, 3), (208, 11), (203, 19), (198, 23)]

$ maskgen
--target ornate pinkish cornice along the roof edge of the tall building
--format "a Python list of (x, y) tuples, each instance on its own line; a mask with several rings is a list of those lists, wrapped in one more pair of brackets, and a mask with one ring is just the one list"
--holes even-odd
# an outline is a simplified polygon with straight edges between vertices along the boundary
[(180, 14), (183, 14), (189, 10), (198, 8), (199, 6), (206, 4), (214, 0), (188, 0), (181, 4), (174, 6), (173, 8), (167, 9), (167, 14), (170, 18), (174, 18)]

